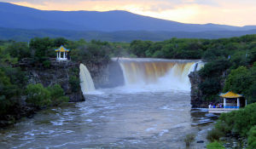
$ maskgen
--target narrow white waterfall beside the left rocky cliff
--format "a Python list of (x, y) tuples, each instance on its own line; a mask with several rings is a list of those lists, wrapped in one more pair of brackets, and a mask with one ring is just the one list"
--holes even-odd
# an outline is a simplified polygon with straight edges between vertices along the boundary
[(91, 91), (95, 91), (94, 83), (90, 77), (90, 72), (84, 64), (80, 64), (80, 86), (83, 94), (87, 94)]

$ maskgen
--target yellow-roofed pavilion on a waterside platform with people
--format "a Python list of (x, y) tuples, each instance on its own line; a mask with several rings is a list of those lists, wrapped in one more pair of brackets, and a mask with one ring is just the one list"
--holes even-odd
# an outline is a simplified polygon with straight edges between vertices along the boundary
[(211, 113), (222, 113), (222, 112), (231, 112), (238, 110), (241, 107), (247, 106), (247, 100), (242, 96), (233, 92), (222, 93), (219, 95), (223, 97), (223, 106), (222, 107), (209, 107), (208, 112)]

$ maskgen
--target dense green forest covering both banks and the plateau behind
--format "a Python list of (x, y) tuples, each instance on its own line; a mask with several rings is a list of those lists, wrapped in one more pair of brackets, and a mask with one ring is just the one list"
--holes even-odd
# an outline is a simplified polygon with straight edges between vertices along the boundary
[[(172, 38), (162, 42), (135, 40), (131, 43), (35, 37), (29, 43), (0, 41), (0, 119), (11, 119), (15, 114), (13, 109), (19, 108), (24, 101), (38, 109), (68, 101), (59, 84), (44, 87), (42, 84), (27, 83), (27, 74), (19, 66), (20, 61), (28, 58), (33, 66), (46, 69), (49, 67), (49, 58), (55, 58), (54, 49), (61, 45), (72, 49), (72, 60), (98, 65), (107, 64), (112, 57), (201, 59), (207, 62), (199, 72), (203, 80), (199, 85), (203, 100), (219, 100), (220, 92), (232, 90), (244, 95), (248, 104), (256, 102), (256, 35), (220, 39)], [(70, 83), (78, 84), (78, 78), (73, 78)], [(237, 130), (239, 135), (249, 136), (249, 142), (255, 140), (254, 116), (247, 117), (246, 122), (249, 124), (234, 122), (237, 117), (243, 121), (245, 114), (255, 113), (254, 106), (252, 104), (239, 112), (223, 114), (218, 130), (225, 129), (229, 133)], [(236, 118), (230, 119), (234, 115)], [(15, 121), (15, 117), (13, 119)], [(231, 123), (237, 123), (235, 129), (228, 127)], [(245, 125), (246, 129), (239, 129)], [(249, 145), (255, 147), (255, 144)]]

